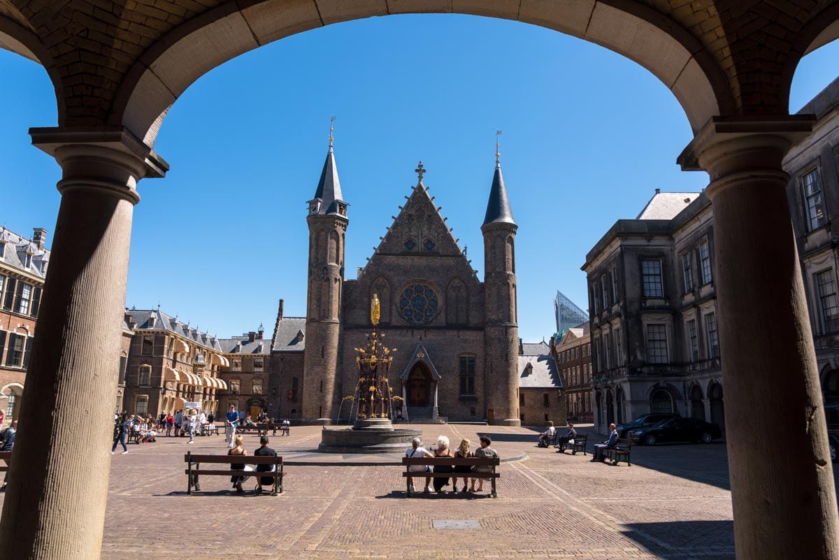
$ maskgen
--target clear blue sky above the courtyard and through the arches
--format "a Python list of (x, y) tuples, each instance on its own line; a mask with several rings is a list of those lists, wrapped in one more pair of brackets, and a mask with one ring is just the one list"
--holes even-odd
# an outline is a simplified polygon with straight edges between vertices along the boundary
[[(55, 229), (54, 160), (29, 127), (55, 126), (43, 69), (0, 51), (0, 225)], [(839, 44), (799, 66), (797, 111), (839, 75)], [(135, 207), (127, 306), (158, 303), (221, 337), (305, 314), (306, 205), (334, 114), (350, 203), (347, 277), (396, 215), (421, 159), (425, 184), (483, 277), (481, 223), (503, 130), (504, 179), (519, 224), (519, 334), (555, 331), (560, 289), (586, 309), (586, 252), (655, 188), (695, 191), (675, 164), (690, 126), (670, 91), (622, 56), (555, 31), (492, 18), (410, 15), (315, 29), (222, 65), (169, 111), (155, 149), (166, 179)], [(48, 245), (51, 238), (48, 239)]]

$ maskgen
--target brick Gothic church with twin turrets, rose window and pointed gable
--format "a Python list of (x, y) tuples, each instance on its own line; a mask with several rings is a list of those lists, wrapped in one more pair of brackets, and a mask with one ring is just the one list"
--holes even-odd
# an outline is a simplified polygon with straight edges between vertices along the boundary
[[(331, 144), (331, 143), (330, 143)], [(496, 154), (498, 156), (498, 154)], [(484, 240), (484, 281), (466, 259), (425, 185), (425, 170), (357, 279), (344, 278), (347, 202), (330, 145), (309, 202), (306, 317), (284, 317), (272, 340), (272, 393), (279, 417), (326, 422), (347, 418), (358, 381), (356, 353), (373, 325), (398, 351), (393, 394), (409, 420), (486, 419), (519, 425), (516, 324), (517, 226), (496, 158)]]

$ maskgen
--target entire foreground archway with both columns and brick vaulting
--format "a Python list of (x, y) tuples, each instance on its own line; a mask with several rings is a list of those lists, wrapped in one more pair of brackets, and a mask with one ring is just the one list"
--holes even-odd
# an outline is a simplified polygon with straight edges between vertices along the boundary
[[(508, 18), (581, 37), (637, 61), (657, 75), (685, 109), (696, 137), (680, 164), (711, 176), (706, 192), (717, 228), (715, 284), (719, 307), (726, 309), (720, 318), (722, 369), (733, 404), (727, 436), (730, 448), (738, 450), (729, 455), (734, 511), (742, 512), (735, 522), (737, 554), (839, 555), (832, 472), (819, 466), (828, 456), (824, 419), (816, 417), (812, 433), (817, 437), (800, 423), (778, 425), (771, 418), (747, 417), (753, 402), (763, 402), (784, 417), (796, 417), (802, 407), (821, 402), (815, 350), (803, 335), (809, 321), (789, 235), (781, 161), (789, 146), (810, 130), (806, 117), (786, 114), (792, 71), (810, 45), (839, 34), (836, 3), (792, 3), (788, 7), (795, 8), (796, 17), (789, 17), (769, 1), (740, 8), (711, 0), (673, 8), (669, 3), (609, 0), (498, 0), (489, 5), (477, 0), (442, 5), (420, 0), (221, 0), (211, 8), (192, 3), (192, 9), (164, 10), (155, 24), (146, 23), (145, 16), (134, 21), (138, 18), (131, 18), (135, 14), (125, 3), (104, 4), (111, 8), (105, 10), (108, 18), (117, 24), (102, 22), (102, 29), (95, 29), (96, 23), (81, 23), (96, 18), (79, 18), (89, 4), (76, 0), (44, 3), (40, 9), (9, 3), (0, 16), (0, 44), (39, 60), (53, 80), (59, 127), (34, 129), (32, 137), (55, 156), (64, 172), (56, 227), (60, 235), (53, 245), (46, 287), (53, 297), (40, 312), (38, 340), (43, 342), (35, 343), (26, 394), (54, 386), (56, 394), (76, 391), (102, 403), (85, 412), (101, 417), (108, 411), (114, 387), (102, 387), (100, 377), (90, 375), (104, 372), (105, 366), (88, 349), (118, 348), (118, 329), (107, 325), (118, 324), (122, 315), (136, 184), (165, 174), (168, 165), (152, 149), (159, 127), (169, 106), (207, 70), (261, 44), (354, 18), (430, 11)], [(62, 39), (54, 33), (55, 22), (72, 22), (81, 29)], [(141, 38), (140, 44), (121, 49), (127, 42), (121, 34), (129, 27), (142, 31), (131, 31)], [(81, 46), (77, 39), (83, 35)], [(755, 49), (755, 44), (761, 48)], [(104, 52), (118, 56), (90, 56)], [(102, 58), (115, 62), (115, 67), (97, 64)], [(74, 86), (80, 83), (96, 87), (77, 91)], [(759, 215), (753, 211), (757, 205)], [(52, 344), (55, 340), (62, 344)], [(758, 377), (762, 383), (753, 382)], [(6, 515), (0, 522), (0, 550), (12, 551), (15, 558), (33, 550), (36, 542), (50, 551), (64, 550), (73, 542), (90, 555), (101, 544), (107, 464), (91, 463), (87, 452), (107, 441), (107, 427), (92, 428), (90, 448), (68, 435), (42, 449), (39, 442), (51, 433), (51, 426), (39, 418), (40, 409), (54, 410), (53, 422), (84, 421), (81, 412), (55, 407), (56, 402), (55, 396), (46, 403), (23, 401), (25, 421), (16, 449), (22, 460), (11, 467)], [(755, 429), (774, 433), (775, 441), (788, 442), (793, 449), (771, 466), (762, 464), (761, 458), (774, 449), (753, 438)], [(24, 467), (44, 473), (41, 480), (29, 480), (27, 492), (18, 483)], [(786, 488), (791, 478), (797, 481), (795, 496)], [(48, 488), (53, 480), (62, 480), (60, 489)], [(91, 480), (95, 484), (87, 484)], [(41, 511), (37, 505), (46, 493), (61, 505), (85, 500), (91, 506), (84, 519), (74, 518), (69, 507)], [(805, 515), (797, 507), (800, 495), (816, 505)], [(776, 505), (773, 515), (754, 511), (764, 503)], [(12, 517), (17, 520), (14, 526), (8, 521)]]

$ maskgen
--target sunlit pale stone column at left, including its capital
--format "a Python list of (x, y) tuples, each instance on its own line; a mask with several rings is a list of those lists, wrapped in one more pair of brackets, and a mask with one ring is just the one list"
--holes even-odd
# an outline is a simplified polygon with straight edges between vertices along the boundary
[(138, 179), (166, 164), (122, 129), (32, 129), (63, 171), (0, 518), (3, 560), (99, 557)]

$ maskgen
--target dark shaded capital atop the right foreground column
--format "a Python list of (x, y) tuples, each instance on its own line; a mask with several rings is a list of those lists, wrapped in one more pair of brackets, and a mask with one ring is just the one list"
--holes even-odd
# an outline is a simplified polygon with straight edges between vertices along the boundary
[(683, 171), (708, 173), (707, 194), (745, 179), (760, 178), (784, 186), (781, 167), (789, 148), (810, 134), (813, 115), (713, 117), (682, 150), (676, 163)]

